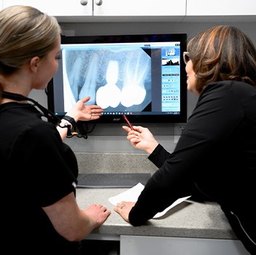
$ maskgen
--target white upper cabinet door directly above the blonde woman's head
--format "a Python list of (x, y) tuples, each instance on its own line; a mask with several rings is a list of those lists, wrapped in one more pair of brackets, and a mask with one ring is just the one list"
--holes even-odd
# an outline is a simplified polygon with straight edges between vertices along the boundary
[[(15, 4), (30, 5), (53, 16), (93, 15), (93, 0), (2, 0), (3, 8)], [(84, 4), (82, 5), (81, 2)]]

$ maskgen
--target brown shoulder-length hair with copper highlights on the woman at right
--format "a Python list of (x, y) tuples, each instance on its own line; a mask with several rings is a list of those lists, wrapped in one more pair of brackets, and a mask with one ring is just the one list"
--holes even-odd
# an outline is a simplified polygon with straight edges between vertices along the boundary
[(256, 87), (256, 49), (251, 39), (233, 26), (214, 26), (187, 44), (196, 89), (201, 93), (210, 82), (236, 80)]

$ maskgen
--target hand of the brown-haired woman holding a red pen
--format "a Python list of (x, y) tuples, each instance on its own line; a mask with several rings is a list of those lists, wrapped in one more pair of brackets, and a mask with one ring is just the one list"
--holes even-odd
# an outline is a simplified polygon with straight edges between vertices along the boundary
[(133, 130), (131, 130), (130, 127), (123, 126), (123, 129), (128, 132), (127, 139), (136, 149), (142, 149), (151, 154), (158, 146), (158, 141), (155, 140), (147, 127), (133, 126)]

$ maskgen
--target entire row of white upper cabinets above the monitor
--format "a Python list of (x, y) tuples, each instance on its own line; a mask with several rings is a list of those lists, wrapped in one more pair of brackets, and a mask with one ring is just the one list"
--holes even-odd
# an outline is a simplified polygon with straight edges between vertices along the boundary
[(31, 5), (59, 22), (256, 22), (255, 0), (0, 0)]

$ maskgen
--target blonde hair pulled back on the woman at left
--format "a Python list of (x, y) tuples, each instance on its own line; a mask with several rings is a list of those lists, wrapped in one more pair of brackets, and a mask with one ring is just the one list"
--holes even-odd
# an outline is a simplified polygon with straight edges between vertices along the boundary
[(61, 27), (55, 17), (34, 7), (15, 5), (0, 12), (0, 74), (18, 70), (34, 56), (53, 50)]

